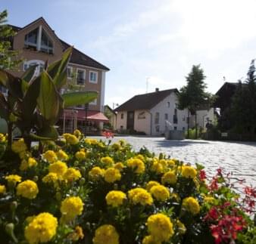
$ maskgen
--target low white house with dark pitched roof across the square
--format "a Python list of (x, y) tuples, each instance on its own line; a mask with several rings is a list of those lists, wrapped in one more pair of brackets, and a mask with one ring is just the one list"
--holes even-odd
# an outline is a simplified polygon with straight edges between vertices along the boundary
[(167, 129), (185, 131), (187, 110), (177, 109), (177, 89), (140, 94), (117, 107), (117, 130), (162, 135)]

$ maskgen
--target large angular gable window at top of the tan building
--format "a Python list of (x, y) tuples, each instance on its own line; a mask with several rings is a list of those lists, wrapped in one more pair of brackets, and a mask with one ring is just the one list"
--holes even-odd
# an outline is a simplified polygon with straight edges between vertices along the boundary
[(53, 43), (42, 26), (34, 29), (25, 36), (25, 47), (35, 51), (53, 54)]

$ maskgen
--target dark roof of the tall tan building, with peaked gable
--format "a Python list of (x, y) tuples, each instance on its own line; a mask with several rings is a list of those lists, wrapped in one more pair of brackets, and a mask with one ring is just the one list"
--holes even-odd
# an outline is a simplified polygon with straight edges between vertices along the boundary
[[(18, 26), (13, 26), (13, 25), (8, 25), (10, 26), (12, 29), (14, 29), (15, 32), (19, 32), (23, 29), (26, 29), (28, 26), (32, 25), (33, 23), (36, 23), (37, 21), (42, 20), (45, 25), (52, 30), (52, 28), (48, 25), (48, 23), (45, 21), (45, 19), (43, 17), (39, 17), (38, 19), (34, 20), (33, 22), (27, 24), (27, 26), (24, 27), (18, 27)], [(55, 31), (52, 30), (53, 34), (56, 36)], [(57, 39), (59, 40), (59, 42), (61, 42), (61, 45), (63, 46), (64, 50), (66, 50), (67, 48), (69, 48), (71, 45), (68, 44), (67, 42), (64, 42), (63, 40), (59, 39), (58, 36), (56, 36)], [(89, 57), (86, 54), (83, 54), (83, 52), (79, 51), (76, 48), (73, 48), (71, 57), (70, 57), (70, 63), (76, 63), (76, 64), (80, 64), (83, 66), (89, 66), (89, 67), (93, 67), (96, 69), (104, 69), (104, 70), (110, 70), (108, 69), (108, 67), (104, 66), (101, 63), (98, 63), (98, 61), (92, 59), (92, 57)]]

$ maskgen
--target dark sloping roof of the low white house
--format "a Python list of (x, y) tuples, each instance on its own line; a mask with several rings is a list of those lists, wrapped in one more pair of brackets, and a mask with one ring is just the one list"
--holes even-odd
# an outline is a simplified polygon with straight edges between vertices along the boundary
[(172, 92), (179, 92), (176, 88), (164, 91), (155, 91), (147, 94), (136, 95), (125, 103), (121, 104), (115, 111), (129, 111), (129, 110), (150, 110), (161, 102), (165, 97)]

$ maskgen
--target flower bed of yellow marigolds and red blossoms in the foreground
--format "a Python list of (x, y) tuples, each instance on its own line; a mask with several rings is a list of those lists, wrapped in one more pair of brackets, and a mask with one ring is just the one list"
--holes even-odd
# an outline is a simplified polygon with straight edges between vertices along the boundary
[[(6, 139), (0, 134), (0, 156)], [(0, 179), (3, 243), (255, 243), (256, 190), (241, 198), (219, 169), (64, 134), (14, 141)], [(41, 150), (41, 149), (40, 149)]]

